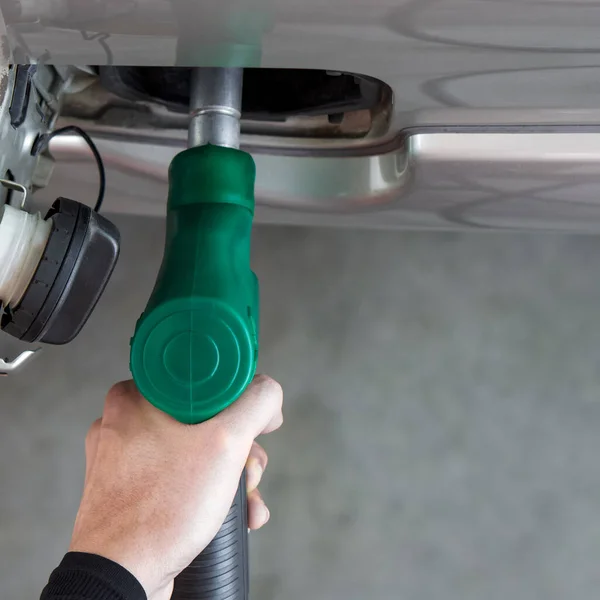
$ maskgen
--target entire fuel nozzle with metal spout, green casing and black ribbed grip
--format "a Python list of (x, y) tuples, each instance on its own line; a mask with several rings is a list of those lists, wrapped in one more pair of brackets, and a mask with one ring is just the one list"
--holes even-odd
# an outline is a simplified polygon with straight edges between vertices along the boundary
[[(234, 147), (241, 70), (198, 69), (193, 87), (194, 147), (178, 154), (169, 169), (163, 263), (131, 342), (131, 371), (142, 395), (189, 424), (217, 415), (252, 380), (259, 310), (250, 269), (255, 166)], [(223, 96), (230, 106), (219, 104)], [(177, 577), (172, 600), (247, 598), (242, 477), (225, 523)]]

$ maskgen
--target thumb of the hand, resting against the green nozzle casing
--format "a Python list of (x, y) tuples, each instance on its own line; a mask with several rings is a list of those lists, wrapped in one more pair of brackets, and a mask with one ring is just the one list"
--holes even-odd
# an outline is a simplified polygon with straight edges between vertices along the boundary
[(217, 415), (215, 421), (251, 443), (262, 433), (281, 427), (282, 403), (281, 386), (266, 375), (257, 375), (240, 398)]

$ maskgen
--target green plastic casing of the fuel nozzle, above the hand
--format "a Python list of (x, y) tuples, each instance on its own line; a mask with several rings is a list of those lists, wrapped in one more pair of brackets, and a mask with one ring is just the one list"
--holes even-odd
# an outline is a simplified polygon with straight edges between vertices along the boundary
[(182, 423), (227, 408), (256, 371), (255, 173), (246, 152), (212, 145), (181, 152), (169, 169), (165, 253), (130, 367), (141, 394)]

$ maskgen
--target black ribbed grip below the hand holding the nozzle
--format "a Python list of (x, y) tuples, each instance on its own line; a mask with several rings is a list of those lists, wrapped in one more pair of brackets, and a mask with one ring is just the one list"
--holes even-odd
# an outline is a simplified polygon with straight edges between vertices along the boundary
[(248, 600), (246, 473), (213, 541), (175, 579), (171, 600)]

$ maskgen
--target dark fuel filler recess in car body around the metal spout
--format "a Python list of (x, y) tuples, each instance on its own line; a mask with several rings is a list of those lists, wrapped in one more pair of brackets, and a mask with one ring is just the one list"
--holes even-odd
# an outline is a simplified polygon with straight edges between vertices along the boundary
[[(66, 99), (63, 115), (99, 125), (187, 127), (191, 69), (100, 66), (97, 82)], [(245, 69), (242, 131), (361, 139), (387, 133), (393, 93), (366, 75), (319, 69)]]

